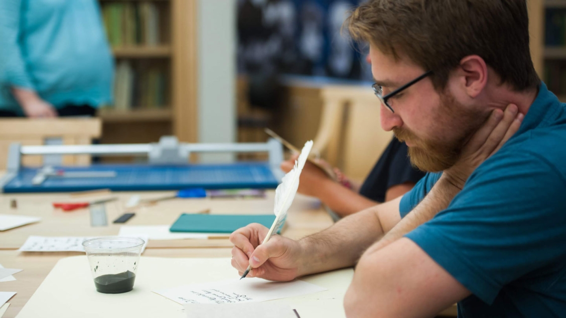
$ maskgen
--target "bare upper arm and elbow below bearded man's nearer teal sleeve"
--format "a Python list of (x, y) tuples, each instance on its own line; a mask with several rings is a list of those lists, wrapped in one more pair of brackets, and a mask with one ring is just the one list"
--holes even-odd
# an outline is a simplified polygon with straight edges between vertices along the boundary
[(470, 295), (460, 282), (407, 238), (365, 253), (344, 298), (349, 318), (434, 317)]

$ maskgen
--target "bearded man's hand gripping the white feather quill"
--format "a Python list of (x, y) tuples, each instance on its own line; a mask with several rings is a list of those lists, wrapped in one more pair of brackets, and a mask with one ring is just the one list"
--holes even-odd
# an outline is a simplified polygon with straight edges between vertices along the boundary
[(261, 244), (269, 229), (260, 224), (250, 224), (230, 235), (232, 266), (240, 276), (248, 265), (252, 270), (246, 277), (260, 277), (271, 281), (291, 281), (301, 276), (302, 247), (299, 242), (273, 235)]

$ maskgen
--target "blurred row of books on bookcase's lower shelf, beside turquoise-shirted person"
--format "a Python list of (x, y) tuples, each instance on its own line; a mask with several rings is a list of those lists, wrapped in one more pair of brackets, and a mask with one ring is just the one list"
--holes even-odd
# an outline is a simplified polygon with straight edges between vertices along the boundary
[(164, 108), (167, 76), (163, 67), (118, 61), (114, 76), (114, 109)]

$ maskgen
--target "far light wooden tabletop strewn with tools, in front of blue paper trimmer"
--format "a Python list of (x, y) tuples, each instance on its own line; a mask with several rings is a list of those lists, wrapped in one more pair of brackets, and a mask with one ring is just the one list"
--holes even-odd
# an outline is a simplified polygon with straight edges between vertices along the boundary
[[(0, 213), (38, 216), (41, 221), (16, 229), (0, 232), (0, 250), (17, 249), (29, 235), (40, 236), (101, 236), (117, 235), (121, 225), (112, 221), (131, 209), (125, 208), (128, 199), (139, 194), (142, 198), (172, 195), (174, 192), (113, 192), (112, 194), (74, 197), (70, 194), (3, 194), (0, 195)], [(172, 199), (155, 205), (136, 208), (136, 215), (126, 225), (171, 225), (181, 213), (195, 213), (211, 209), (212, 214), (269, 214), (273, 213), (275, 191), (267, 191), (265, 199)], [(63, 212), (52, 207), (56, 201), (92, 201), (107, 197), (118, 197), (118, 201), (106, 203), (108, 226), (92, 227), (88, 208)], [(10, 208), (15, 199), (17, 209)], [(316, 199), (297, 195), (289, 209), (285, 235), (299, 238), (331, 226), (332, 220), (320, 207)], [(168, 247), (231, 247), (228, 239), (211, 240), (152, 240), (148, 248)]]

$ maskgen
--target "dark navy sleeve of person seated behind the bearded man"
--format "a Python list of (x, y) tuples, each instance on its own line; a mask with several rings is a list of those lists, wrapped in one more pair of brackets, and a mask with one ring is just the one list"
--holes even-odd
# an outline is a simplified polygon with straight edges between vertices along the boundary
[(417, 183), (424, 177), (426, 173), (411, 165), (409, 159), (408, 148), (405, 143), (401, 143), (397, 148), (391, 160), (389, 168), (389, 178), (387, 179), (387, 188), (397, 186), (406, 182)]

